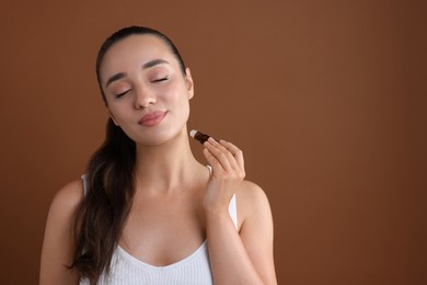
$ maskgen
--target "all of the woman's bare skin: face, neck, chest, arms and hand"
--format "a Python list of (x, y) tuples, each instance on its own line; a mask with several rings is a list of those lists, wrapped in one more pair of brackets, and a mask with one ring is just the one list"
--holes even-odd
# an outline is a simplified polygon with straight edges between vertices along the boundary
[[(153, 64), (157, 59), (162, 62)], [(153, 65), (145, 68), (147, 62)], [(269, 204), (259, 186), (244, 180), (242, 151), (226, 140), (206, 141), (203, 151), (212, 173), (192, 153), (186, 127), (194, 96), (189, 69), (183, 75), (158, 37), (132, 35), (106, 53), (101, 79), (111, 117), (137, 146), (136, 195), (119, 247), (162, 266), (185, 259), (207, 240), (215, 284), (277, 284)], [(158, 111), (164, 115), (159, 123), (139, 124)], [(62, 264), (71, 261), (72, 215), (82, 193), (81, 181), (74, 181), (51, 203), (41, 284), (78, 283), (77, 274)], [(238, 230), (228, 212), (234, 194)]]

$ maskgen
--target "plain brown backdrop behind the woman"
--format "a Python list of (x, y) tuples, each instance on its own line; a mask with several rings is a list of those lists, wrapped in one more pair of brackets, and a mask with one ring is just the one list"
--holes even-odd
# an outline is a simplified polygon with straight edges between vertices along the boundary
[(422, 2), (2, 1), (0, 284), (37, 283), (50, 201), (104, 137), (95, 54), (130, 24), (181, 48), (189, 128), (245, 151), (279, 284), (427, 284)]

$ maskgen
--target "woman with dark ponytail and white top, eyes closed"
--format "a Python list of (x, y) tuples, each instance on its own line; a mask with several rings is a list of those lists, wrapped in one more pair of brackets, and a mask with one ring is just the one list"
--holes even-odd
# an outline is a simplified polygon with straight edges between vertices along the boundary
[(192, 155), (194, 82), (173, 43), (125, 27), (96, 75), (106, 139), (51, 203), (41, 284), (276, 284), (268, 201), (242, 151), (210, 138), (209, 168)]

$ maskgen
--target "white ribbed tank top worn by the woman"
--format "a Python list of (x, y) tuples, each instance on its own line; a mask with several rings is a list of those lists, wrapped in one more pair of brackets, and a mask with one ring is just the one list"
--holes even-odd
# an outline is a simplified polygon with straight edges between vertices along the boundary
[[(86, 176), (82, 176), (84, 193), (88, 191)], [(238, 228), (238, 213), (235, 195), (229, 205), (230, 217)], [(80, 285), (89, 285), (89, 281), (81, 280)], [(210, 271), (208, 244), (206, 240), (192, 254), (183, 260), (166, 266), (154, 266), (145, 263), (120, 246), (114, 250), (111, 265), (111, 273), (102, 274), (99, 285), (212, 285), (212, 273)]]

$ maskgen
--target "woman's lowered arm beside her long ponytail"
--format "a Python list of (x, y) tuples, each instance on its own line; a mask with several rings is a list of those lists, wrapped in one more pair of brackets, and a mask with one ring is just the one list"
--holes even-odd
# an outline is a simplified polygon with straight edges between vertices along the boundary
[(46, 221), (41, 260), (41, 285), (78, 284), (78, 275), (67, 266), (72, 260), (74, 212), (83, 197), (81, 181), (62, 187), (51, 202)]

